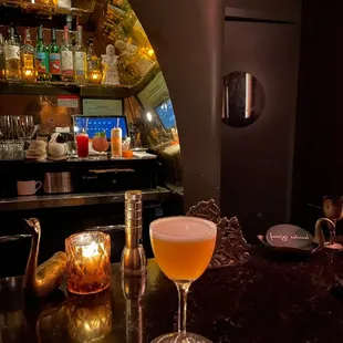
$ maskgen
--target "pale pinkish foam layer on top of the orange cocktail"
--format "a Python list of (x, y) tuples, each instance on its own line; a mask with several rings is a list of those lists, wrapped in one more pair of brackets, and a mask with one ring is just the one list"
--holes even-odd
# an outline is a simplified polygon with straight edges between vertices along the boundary
[(152, 222), (150, 235), (165, 241), (196, 242), (216, 237), (217, 226), (196, 217), (167, 217)]

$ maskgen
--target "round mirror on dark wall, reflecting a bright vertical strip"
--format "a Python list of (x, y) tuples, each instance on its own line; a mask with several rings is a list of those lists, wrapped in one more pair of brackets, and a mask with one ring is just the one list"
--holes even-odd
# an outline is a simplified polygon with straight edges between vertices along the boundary
[(263, 113), (264, 92), (250, 73), (233, 72), (224, 79), (222, 122), (232, 127), (254, 123)]

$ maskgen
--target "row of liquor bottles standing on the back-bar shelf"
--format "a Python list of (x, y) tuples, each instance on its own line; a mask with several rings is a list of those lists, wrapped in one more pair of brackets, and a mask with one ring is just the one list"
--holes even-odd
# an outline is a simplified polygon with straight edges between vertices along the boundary
[(51, 42), (45, 44), (43, 28), (38, 28), (37, 42), (33, 45), (30, 29), (21, 39), (10, 28), (8, 40), (0, 34), (0, 79), (7, 82), (62, 82), (79, 85), (101, 84), (103, 72), (101, 60), (96, 56), (93, 39), (87, 48), (83, 43), (82, 27), (77, 27), (74, 46), (71, 43), (69, 28), (64, 27), (63, 43), (56, 42), (56, 30), (51, 30)]

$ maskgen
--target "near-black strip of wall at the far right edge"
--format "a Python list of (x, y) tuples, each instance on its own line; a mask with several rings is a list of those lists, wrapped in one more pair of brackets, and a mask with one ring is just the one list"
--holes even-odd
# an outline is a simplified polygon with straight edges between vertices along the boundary
[(303, 1), (292, 219), (308, 229), (322, 215), (308, 204), (343, 194), (342, 10)]

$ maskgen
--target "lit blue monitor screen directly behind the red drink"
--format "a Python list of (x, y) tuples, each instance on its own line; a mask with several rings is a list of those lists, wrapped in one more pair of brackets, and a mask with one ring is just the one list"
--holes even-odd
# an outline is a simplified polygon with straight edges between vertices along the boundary
[(117, 116), (74, 116), (74, 132), (75, 134), (85, 128), (89, 137), (92, 139), (97, 132), (105, 132), (107, 139), (111, 139), (111, 129), (117, 126), (122, 128), (122, 137), (127, 136), (127, 122), (126, 117)]

